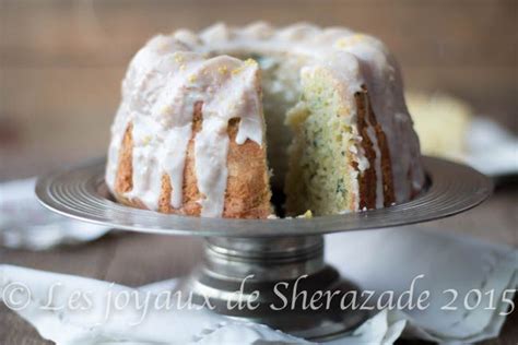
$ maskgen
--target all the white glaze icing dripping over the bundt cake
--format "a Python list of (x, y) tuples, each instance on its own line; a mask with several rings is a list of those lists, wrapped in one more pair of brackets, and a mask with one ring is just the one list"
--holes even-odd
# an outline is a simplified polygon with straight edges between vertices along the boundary
[[(170, 204), (181, 206), (185, 154), (192, 136), (192, 109), (203, 102), (203, 127), (195, 140), (196, 175), (203, 194), (199, 202), (202, 216), (221, 216), (226, 190), (226, 126), (240, 118), (236, 142), (247, 139), (262, 144), (264, 135), (262, 105), (258, 94), (257, 66), (221, 56), (205, 55), (259, 52), (303, 57), (308, 64), (330, 69), (341, 81), (343, 99), (355, 123), (354, 93), (367, 87), (369, 99), (381, 126), (392, 162), (397, 202), (410, 198), (424, 183), (417, 136), (407, 110), (398, 66), (385, 46), (370, 36), (342, 27), (319, 28), (294, 24), (275, 29), (267, 23), (246, 27), (215, 24), (199, 35), (180, 29), (170, 36), (150, 40), (133, 58), (122, 83), (122, 102), (111, 128), (106, 181), (115, 188), (118, 152), (127, 126), (133, 123), (133, 189), (127, 198), (139, 199), (156, 210), (161, 177), (170, 178)], [(305, 68), (303, 67), (302, 72)], [(227, 73), (228, 69), (239, 73)], [(356, 131), (355, 126), (353, 129)], [(361, 136), (353, 133), (361, 170), (368, 168)], [(368, 135), (376, 152), (376, 206), (382, 206), (380, 150), (372, 123)], [(353, 174), (357, 194), (357, 172)], [(360, 201), (360, 198), (357, 198)], [(356, 210), (358, 205), (356, 205)]]

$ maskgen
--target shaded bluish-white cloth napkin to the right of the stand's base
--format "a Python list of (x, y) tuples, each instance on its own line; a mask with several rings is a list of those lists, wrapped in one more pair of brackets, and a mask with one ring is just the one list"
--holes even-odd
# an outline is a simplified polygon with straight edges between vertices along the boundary
[(399, 297), (412, 279), (416, 296), (429, 292), (425, 310), (402, 310), (407, 335), (462, 344), (498, 335), (518, 284), (517, 249), (419, 226), (327, 239), (327, 260), (376, 297)]

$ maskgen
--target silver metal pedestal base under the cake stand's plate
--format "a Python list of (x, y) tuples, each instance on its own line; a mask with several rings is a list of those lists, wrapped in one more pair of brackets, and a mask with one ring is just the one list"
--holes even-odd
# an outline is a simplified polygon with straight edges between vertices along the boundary
[(351, 307), (360, 289), (323, 261), (322, 236), (205, 239), (181, 296), (219, 314), (329, 340), (368, 318)]

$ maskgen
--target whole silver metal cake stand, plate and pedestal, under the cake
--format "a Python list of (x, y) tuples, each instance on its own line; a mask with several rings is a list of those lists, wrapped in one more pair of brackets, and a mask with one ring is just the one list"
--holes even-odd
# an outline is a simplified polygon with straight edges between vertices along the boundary
[[(201, 218), (132, 209), (110, 197), (104, 181), (105, 159), (39, 178), (36, 194), (49, 210), (79, 221), (204, 237), (203, 261), (179, 284), (179, 290), (188, 293), (183, 296), (200, 305), (209, 301), (220, 314), (321, 341), (340, 336), (368, 318), (367, 311), (344, 308), (346, 296), (352, 296), (346, 293), (360, 287), (326, 264), (325, 234), (437, 219), (474, 207), (492, 192), (491, 180), (472, 168), (431, 157), (424, 157), (424, 165), (426, 190), (410, 202), (314, 218)], [(293, 298), (294, 292), (305, 292), (308, 298)], [(320, 308), (308, 308), (309, 298), (319, 292), (334, 297)]]

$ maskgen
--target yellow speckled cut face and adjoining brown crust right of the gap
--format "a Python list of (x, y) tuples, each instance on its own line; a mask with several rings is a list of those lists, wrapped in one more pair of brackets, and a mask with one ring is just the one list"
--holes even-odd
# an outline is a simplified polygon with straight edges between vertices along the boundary
[[(301, 73), (301, 102), (287, 114), (294, 132), (285, 185), (287, 214), (317, 215), (389, 206), (395, 202), (390, 155), (355, 59), (343, 80), (330, 66)], [(356, 74), (356, 75), (355, 75)]]

